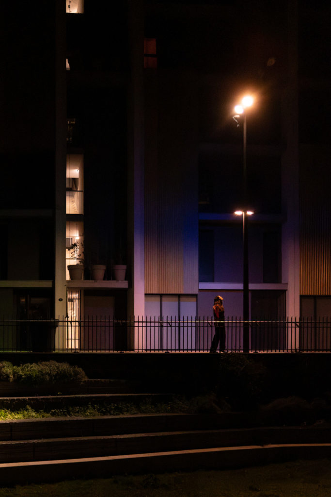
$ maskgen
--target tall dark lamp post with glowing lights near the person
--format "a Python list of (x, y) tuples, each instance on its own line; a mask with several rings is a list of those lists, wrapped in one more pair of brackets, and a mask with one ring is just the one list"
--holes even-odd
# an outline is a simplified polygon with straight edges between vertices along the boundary
[(249, 273), (248, 273), (248, 216), (251, 216), (253, 211), (248, 210), (247, 206), (247, 166), (246, 166), (246, 147), (247, 147), (247, 118), (245, 110), (253, 105), (254, 99), (251, 95), (246, 95), (240, 105), (236, 105), (234, 110), (236, 114), (233, 116), (237, 119), (243, 117), (243, 209), (235, 211), (237, 216), (243, 217), (243, 350), (250, 351), (250, 328), (249, 328)]

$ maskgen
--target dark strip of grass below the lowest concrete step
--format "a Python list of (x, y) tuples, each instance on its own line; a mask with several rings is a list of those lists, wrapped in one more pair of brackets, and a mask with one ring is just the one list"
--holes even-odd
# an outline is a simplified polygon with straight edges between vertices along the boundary
[(118, 476), (0, 489), (0, 497), (330, 497), (331, 461)]

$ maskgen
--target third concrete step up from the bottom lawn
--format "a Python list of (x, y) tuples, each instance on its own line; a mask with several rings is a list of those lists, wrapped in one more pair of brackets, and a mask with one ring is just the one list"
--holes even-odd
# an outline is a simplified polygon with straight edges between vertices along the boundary
[[(249, 413), (222, 414), (133, 414), (98, 417), (50, 417), (40, 419), (17, 419), (0, 421), (0, 440), (29, 440), (43, 438), (80, 437), (80, 436), (109, 436), (131, 433), (152, 433), (169, 431), (196, 431), (258, 428), (269, 427), (294, 430), (292, 427), (282, 427), (273, 423), (274, 419), (263, 418)], [(305, 431), (306, 430), (306, 431)], [(314, 437), (325, 433), (328, 441), (331, 424), (311, 427), (296, 427), (296, 433), (313, 433)], [(315, 438), (314, 441), (320, 440)]]

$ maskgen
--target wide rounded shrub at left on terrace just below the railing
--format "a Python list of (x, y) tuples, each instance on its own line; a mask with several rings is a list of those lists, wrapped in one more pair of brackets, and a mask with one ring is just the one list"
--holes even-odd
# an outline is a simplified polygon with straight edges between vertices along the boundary
[(25, 385), (44, 385), (57, 383), (81, 384), (87, 379), (84, 371), (67, 362), (47, 361), (27, 363), (13, 367), (13, 380)]

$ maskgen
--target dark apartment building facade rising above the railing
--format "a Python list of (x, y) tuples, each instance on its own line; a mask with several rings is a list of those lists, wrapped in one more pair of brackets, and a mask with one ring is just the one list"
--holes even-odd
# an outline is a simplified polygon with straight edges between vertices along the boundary
[[(226, 314), (242, 316), (233, 107), (249, 91), (250, 318), (331, 315), (330, 127), (320, 112), (330, 9), (2, 9), (0, 314), (210, 316), (220, 294)], [(74, 263), (82, 279), (70, 278)], [(94, 264), (106, 267), (102, 279)]]

